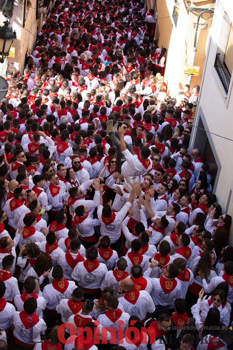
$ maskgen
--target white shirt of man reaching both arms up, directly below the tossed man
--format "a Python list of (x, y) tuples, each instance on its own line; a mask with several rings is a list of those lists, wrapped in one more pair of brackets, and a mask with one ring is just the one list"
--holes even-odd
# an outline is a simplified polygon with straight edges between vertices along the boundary
[(131, 208), (131, 207), (132, 207), (131, 203), (126, 202), (124, 204), (124, 206), (122, 207), (122, 209), (119, 212), (115, 213), (116, 217), (115, 217), (114, 222), (112, 222), (109, 225), (105, 225), (102, 221), (102, 218), (101, 218), (103, 206), (99, 205), (97, 207), (97, 215), (98, 215), (99, 221), (101, 223), (101, 226), (100, 226), (101, 236), (109, 236), (110, 242), (115, 243), (121, 236), (121, 222), (124, 219), (129, 208)]

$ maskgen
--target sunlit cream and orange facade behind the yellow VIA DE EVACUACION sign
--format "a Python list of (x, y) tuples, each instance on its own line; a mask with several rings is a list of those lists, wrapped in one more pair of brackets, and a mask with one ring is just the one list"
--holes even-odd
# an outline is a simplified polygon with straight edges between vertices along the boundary
[[(189, 84), (184, 68), (192, 63), (198, 14), (203, 9), (214, 8), (214, 5), (215, 0), (156, 0), (155, 37), (159, 47), (167, 49), (165, 80), (171, 96), (176, 96), (178, 82)], [(192, 77), (191, 86), (201, 83), (212, 18), (212, 13), (204, 13), (199, 20), (194, 64), (200, 66), (200, 70), (198, 76)]]

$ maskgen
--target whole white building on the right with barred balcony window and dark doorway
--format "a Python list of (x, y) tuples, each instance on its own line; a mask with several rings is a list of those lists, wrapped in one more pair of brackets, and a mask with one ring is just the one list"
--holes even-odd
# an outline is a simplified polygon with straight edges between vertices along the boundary
[[(217, 201), (222, 206), (223, 212), (231, 216), (233, 216), (233, 141), (223, 137), (233, 140), (232, 72), (232, 1), (217, 0), (194, 121), (196, 127), (192, 130), (190, 149), (201, 149), (204, 160), (210, 165), (213, 193), (217, 195)], [(233, 235), (230, 236), (230, 241), (232, 244)]]

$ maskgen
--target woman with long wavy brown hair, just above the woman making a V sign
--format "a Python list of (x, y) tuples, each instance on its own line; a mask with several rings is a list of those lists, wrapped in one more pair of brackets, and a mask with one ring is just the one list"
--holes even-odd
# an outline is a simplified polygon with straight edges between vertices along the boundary
[(203, 282), (205, 278), (207, 283), (210, 283), (213, 277), (217, 276), (215, 269), (213, 268), (215, 262), (215, 255), (213, 252), (205, 251), (202, 253), (201, 258), (195, 262), (191, 267), (194, 274), (194, 281), (192, 282), (189, 290), (186, 294), (187, 305), (191, 307), (198, 300), (198, 293), (202, 290)]

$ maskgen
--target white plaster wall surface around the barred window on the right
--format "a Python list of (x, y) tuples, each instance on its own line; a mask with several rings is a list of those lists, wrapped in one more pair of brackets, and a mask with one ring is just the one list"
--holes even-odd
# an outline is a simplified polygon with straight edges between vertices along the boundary
[[(222, 38), (223, 34), (224, 11), (233, 22), (231, 0), (218, 0), (216, 3), (212, 34), (210, 36), (209, 48), (206, 55), (206, 64), (202, 77), (198, 109), (202, 109), (210, 132), (233, 140), (233, 75), (228, 96), (226, 96), (223, 86), (221, 85), (216, 70), (213, 66), (216, 53), (219, 52), (218, 45), (221, 44), (220, 39)], [(225, 34), (225, 37), (227, 34), (228, 33)], [(199, 114), (198, 109), (196, 116)], [(194, 138), (198, 140), (198, 130), (195, 130), (193, 139)], [(208, 134), (208, 138), (212, 139), (221, 164), (219, 178), (216, 179), (218, 182), (215, 194), (217, 195), (218, 202), (221, 204), (223, 209), (225, 209), (233, 181), (233, 142), (210, 134)], [(233, 195), (231, 197), (228, 214), (233, 217)]]

